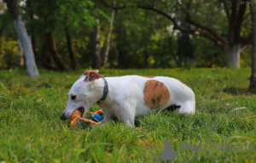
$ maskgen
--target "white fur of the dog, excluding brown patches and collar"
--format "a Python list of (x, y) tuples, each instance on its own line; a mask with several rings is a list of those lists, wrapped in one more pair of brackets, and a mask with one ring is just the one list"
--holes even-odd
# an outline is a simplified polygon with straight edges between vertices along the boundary
[[(155, 76), (154, 78), (146, 78), (143, 76), (120, 76), (106, 77), (108, 82), (108, 96), (101, 101), (103, 104), (102, 111), (104, 120), (111, 121), (113, 116), (118, 116), (120, 121), (131, 126), (138, 116), (148, 115), (151, 111), (143, 100), (143, 89), (148, 80), (156, 80), (166, 85), (170, 92), (169, 102), (159, 109), (178, 105), (178, 112), (186, 114), (195, 114), (195, 93), (182, 82), (177, 79)], [(68, 93), (68, 103), (66, 110), (63, 111), (61, 118), (68, 119), (73, 110), (84, 107), (84, 114), (87, 113), (97, 101), (102, 98), (104, 81), (102, 78), (93, 82), (84, 81), (81, 76)], [(75, 100), (71, 99), (71, 95), (77, 95)], [(83, 115), (84, 116), (84, 115)]]

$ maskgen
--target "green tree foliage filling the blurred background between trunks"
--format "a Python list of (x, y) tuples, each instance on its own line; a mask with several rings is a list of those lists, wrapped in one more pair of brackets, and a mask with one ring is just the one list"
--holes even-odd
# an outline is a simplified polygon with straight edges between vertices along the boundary
[[(190, 3), (192, 2), (192, 3)], [(35, 37), (35, 48), (40, 56), (47, 61), (52, 57), (45, 41), (45, 34), (50, 31), (54, 37), (55, 45), (61, 58), (70, 65), (70, 57), (67, 50), (65, 30), (72, 37), (73, 51), (79, 60), (81, 67), (91, 65), (91, 34), (96, 26), (96, 19), (101, 25), (101, 46), (108, 32), (108, 24), (113, 1), (79, 1), (79, 0), (27, 0), (21, 8), (21, 16), (26, 23), (28, 34)], [(229, 23), (224, 12), (224, 6), (220, 1), (116, 1), (115, 19), (110, 42), (108, 68), (173, 68), (185, 67), (224, 67), (226, 56), (224, 49), (204, 37), (193, 37), (180, 31), (173, 31), (171, 20), (152, 10), (137, 8), (137, 5), (153, 7), (175, 18), (184, 29), (195, 30), (195, 25), (186, 23), (186, 12), (189, 10), (191, 18), (195, 22), (205, 25), (213, 32), (218, 33), (224, 39), (228, 37)], [(228, 6), (231, 2), (227, 1)], [(19, 63), (8, 64), (16, 55), (15, 48), (17, 36), (10, 21), (9, 13), (4, 9), (4, 3), (0, 3), (0, 42), (1, 53), (0, 68), (19, 66)], [(190, 9), (189, 9), (190, 8)], [(238, 11), (239, 5), (237, 5)], [(251, 33), (251, 21), (249, 9), (246, 8), (245, 18), (241, 26), (241, 37), (247, 37)], [(47, 26), (49, 23), (49, 26)], [(11, 24), (11, 25), (10, 25)], [(4, 31), (4, 32), (3, 32)], [(201, 32), (199, 30), (199, 32)], [(209, 34), (208, 31), (204, 31)], [(3, 37), (3, 38), (2, 38)], [(4, 45), (1, 45), (3, 42)], [(8, 46), (8, 47), (7, 47)], [(8, 54), (7, 49), (9, 51)], [(241, 52), (241, 67), (251, 65), (251, 50), (248, 46)], [(3, 56), (6, 56), (3, 59)], [(37, 64), (42, 66), (41, 60), (36, 56)], [(179, 64), (177, 64), (177, 61)], [(54, 65), (54, 62), (52, 63)]]

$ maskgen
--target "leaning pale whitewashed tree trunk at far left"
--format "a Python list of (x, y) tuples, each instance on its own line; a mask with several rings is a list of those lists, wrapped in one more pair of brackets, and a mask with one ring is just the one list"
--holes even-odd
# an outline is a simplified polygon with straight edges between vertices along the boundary
[(20, 38), (21, 46), (24, 51), (27, 74), (30, 77), (38, 77), (39, 72), (34, 59), (34, 53), (32, 51), (32, 43), (27, 35), (26, 27), (23, 23), (23, 20), (21, 19), (20, 10), (15, 0), (6, 0), (5, 2), (7, 3), (9, 13), (14, 20), (15, 30), (18, 33), (18, 37)]

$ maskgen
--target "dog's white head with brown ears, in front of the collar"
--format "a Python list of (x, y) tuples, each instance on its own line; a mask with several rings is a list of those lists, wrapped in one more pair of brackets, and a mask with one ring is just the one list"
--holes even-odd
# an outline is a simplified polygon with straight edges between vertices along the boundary
[(102, 94), (96, 88), (95, 82), (102, 75), (97, 73), (98, 70), (86, 70), (79, 80), (73, 84), (68, 95), (66, 109), (61, 115), (61, 120), (70, 118), (74, 110), (80, 110), (82, 117), (89, 111), (92, 104), (98, 101)]

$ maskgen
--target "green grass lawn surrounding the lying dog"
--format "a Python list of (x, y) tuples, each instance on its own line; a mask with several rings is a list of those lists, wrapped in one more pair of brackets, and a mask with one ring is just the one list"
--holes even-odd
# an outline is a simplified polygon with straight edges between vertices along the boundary
[[(83, 70), (0, 70), (0, 162), (156, 162), (168, 138), (176, 160), (160, 162), (255, 162), (256, 96), (247, 92), (249, 69), (101, 70), (103, 76), (172, 76), (191, 87), (197, 113), (161, 110), (143, 116), (135, 128), (122, 123), (69, 126), (60, 115), (67, 93)], [(245, 106), (246, 110), (232, 111)], [(95, 104), (90, 110), (100, 108)], [(182, 151), (182, 143), (251, 144), (253, 151)]]

